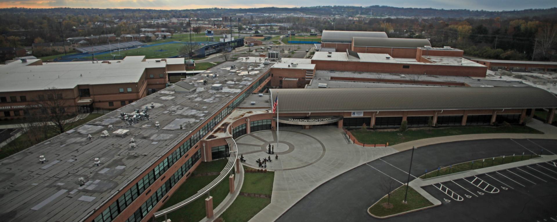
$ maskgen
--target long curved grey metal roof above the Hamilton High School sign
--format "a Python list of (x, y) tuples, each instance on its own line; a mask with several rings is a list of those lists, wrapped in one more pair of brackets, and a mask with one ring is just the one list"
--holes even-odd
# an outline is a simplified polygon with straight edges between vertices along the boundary
[(281, 113), (392, 110), (555, 108), (557, 97), (536, 87), (270, 89)]

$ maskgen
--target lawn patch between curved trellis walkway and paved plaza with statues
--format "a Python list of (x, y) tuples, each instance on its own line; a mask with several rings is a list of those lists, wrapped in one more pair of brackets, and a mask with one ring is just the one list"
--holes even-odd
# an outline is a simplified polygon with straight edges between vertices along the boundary
[[(244, 166), (244, 169), (251, 169)], [(243, 193), (271, 195), (275, 172), (245, 173), (242, 189)], [(270, 199), (238, 195), (236, 200), (222, 213), (221, 218), (230, 222), (245, 222), (253, 218), (265, 206), (271, 203)]]

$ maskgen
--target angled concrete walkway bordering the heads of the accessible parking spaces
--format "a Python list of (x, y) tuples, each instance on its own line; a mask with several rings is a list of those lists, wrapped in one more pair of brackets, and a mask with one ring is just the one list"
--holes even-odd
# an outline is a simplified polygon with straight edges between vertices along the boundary
[(531, 165), (531, 164), (536, 164), (536, 163), (549, 162), (551, 160), (556, 160), (556, 159), (557, 159), (557, 155), (542, 155), (541, 158), (534, 158), (534, 159), (528, 159), (528, 160), (523, 160), (523, 161), (519, 161), (519, 162), (501, 164), (501, 165), (496, 165), (496, 166), (489, 166), (489, 167), (486, 167), (486, 168), (475, 169), (475, 170), (467, 170), (467, 171), (462, 171), (462, 172), (459, 172), (459, 173), (453, 173), (453, 174), (448, 174), (448, 175), (443, 175), (443, 176), (436, 176), (434, 178), (429, 178), (429, 179), (416, 178), (416, 179), (410, 181), (409, 186), (411, 188), (413, 188), (414, 190), (416, 190), (419, 194), (424, 196), (427, 200), (429, 200), (434, 205), (441, 205), (441, 201), (434, 198), (431, 194), (427, 193), (427, 191), (423, 190), (422, 187), (423, 186), (428, 186), (428, 185), (433, 185), (433, 184), (438, 184), (438, 183), (443, 183), (443, 182), (447, 182), (447, 181), (451, 181), (451, 180), (467, 178), (467, 177), (470, 177), (470, 176), (476, 176), (476, 175), (480, 175), (480, 174), (491, 173), (491, 172), (494, 172), (494, 171), (517, 168), (519, 166), (526, 166), (526, 165)]

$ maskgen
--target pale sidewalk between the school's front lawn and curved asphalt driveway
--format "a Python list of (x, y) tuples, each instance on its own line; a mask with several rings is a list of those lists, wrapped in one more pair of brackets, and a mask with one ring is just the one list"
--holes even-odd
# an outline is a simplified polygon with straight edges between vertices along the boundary
[(465, 134), (465, 135), (451, 135), (448, 137), (433, 137), (426, 139), (413, 140), (406, 143), (399, 143), (390, 146), (402, 152), (404, 150), (412, 149), (412, 147), (423, 147), (426, 145), (448, 143), (462, 140), (477, 140), (477, 139), (555, 139), (557, 138), (557, 127), (550, 124), (545, 124), (537, 119), (532, 119), (531, 123), (526, 124), (528, 127), (534, 128), (544, 134), (527, 134), (527, 133), (486, 133), (486, 134)]

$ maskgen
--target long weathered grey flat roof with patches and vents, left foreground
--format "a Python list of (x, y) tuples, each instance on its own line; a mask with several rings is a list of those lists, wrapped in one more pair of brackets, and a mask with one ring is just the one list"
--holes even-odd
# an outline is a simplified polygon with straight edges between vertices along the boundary
[[(235, 72), (230, 72), (231, 65), (236, 65)], [(0, 187), (10, 188), (0, 190), (0, 201), (9, 203), (0, 208), (3, 221), (83, 221), (269, 69), (265, 64), (219, 64), (184, 80), (196, 85), (196, 92), (175, 92), (170, 86), (0, 160)], [(217, 77), (203, 85), (206, 74)], [(212, 84), (223, 89), (212, 90)], [(149, 108), (149, 120), (126, 125), (120, 119), (120, 113), (151, 103), (155, 108)], [(130, 131), (119, 137), (113, 133), (119, 129)], [(110, 137), (100, 137), (103, 130)], [(131, 138), (138, 147), (129, 148)], [(47, 162), (41, 164), (39, 155)], [(94, 158), (100, 158), (100, 166)], [(84, 186), (77, 183), (80, 177), (87, 180)]]

